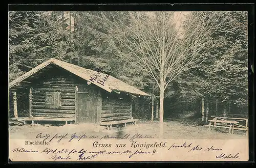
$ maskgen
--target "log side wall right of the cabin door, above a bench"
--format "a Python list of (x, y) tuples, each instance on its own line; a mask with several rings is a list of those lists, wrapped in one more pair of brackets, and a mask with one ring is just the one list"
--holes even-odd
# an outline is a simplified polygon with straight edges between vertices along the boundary
[[(131, 98), (113, 94), (102, 96), (101, 122), (131, 119)], [(122, 98), (119, 99), (121, 96)]]

